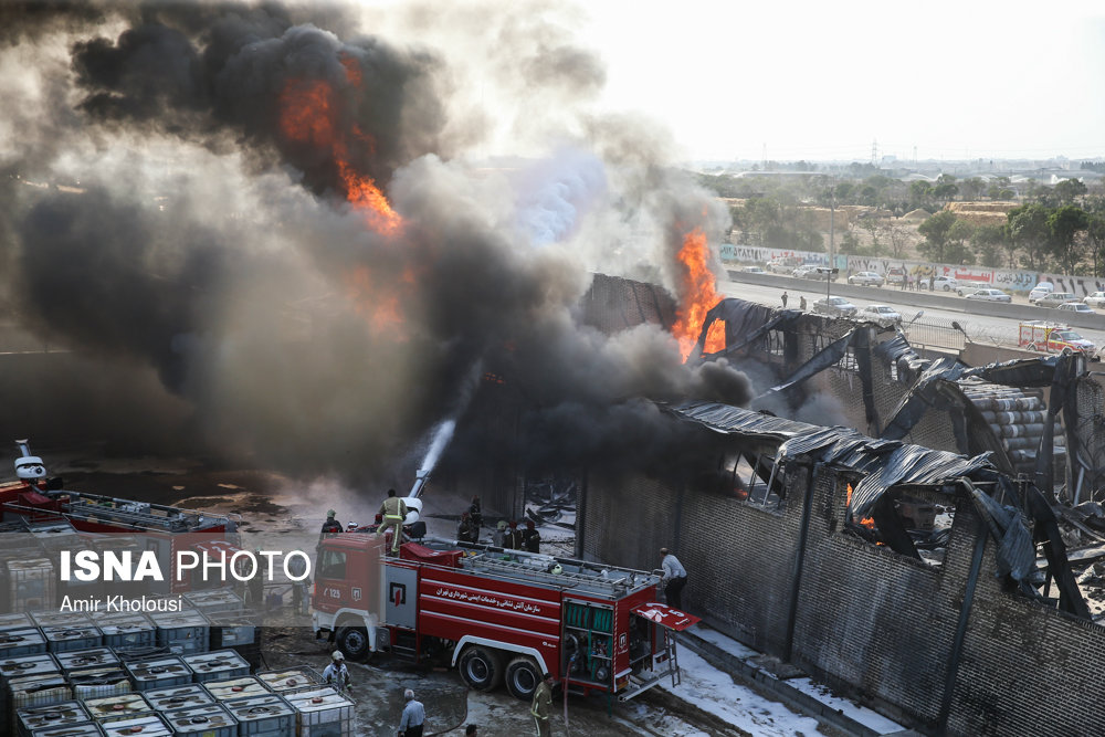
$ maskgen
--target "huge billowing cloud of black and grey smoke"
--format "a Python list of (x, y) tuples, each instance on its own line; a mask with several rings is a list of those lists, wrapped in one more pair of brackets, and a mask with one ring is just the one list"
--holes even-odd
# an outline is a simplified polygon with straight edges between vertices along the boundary
[[(665, 166), (652, 130), (580, 115), (593, 152), (565, 157), (589, 170), (558, 210), (575, 221), (546, 228), (561, 240), (539, 244), (519, 225), (517, 178), (457, 148), (476, 143), (485, 113), (461, 99), (449, 53), (373, 35), (356, 9), (17, 3), (3, 13), (0, 63), (36, 60), (29, 82), (0, 82), (25, 103), (0, 116), (0, 130), (24, 134), (0, 159), (7, 304), (99, 372), (145, 369), (166, 390), (155, 400), (133, 381), (148, 408), (136, 417), (137, 390), (82, 371), (64, 392), (66, 436), (194, 443), (293, 473), (369, 478), (463, 413), (459, 398), (474, 381), (486, 392), (485, 375), (520, 408), (501, 452), (535, 465), (659, 452), (674, 436), (657, 430), (649, 400), (747, 401), (743, 373), (683, 365), (660, 326), (609, 336), (576, 318), (590, 269), (674, 286), (687, 221), (713, 235), (725, 225)], [(495, 28), (505, 42), (539, 25)], [(555, 63), (503, 43), (494, 78), (526, 88), (527, 109), (543, 93), (558, 101), (561, 119), (572, 90), (593, 96), (601, 69), (558, 33), (533, 38)], [(350, 172), (387, 194), (401, 228), (366, 221), (349, 202)], [(560, 176), (572, 172), (540, 169), (550, 191), (564, 190)], [(527, 212), (541, 210), (543, 191), (527, 196)], [(127, 408), (125, 422), (104, 411), (97, 381)], [(144, 432), (155, 422), (178, 432)], [(28, 434), (18, 417), (9, 424)], [(465, 429), (461, 454), (480, 446), (480, 428)]]

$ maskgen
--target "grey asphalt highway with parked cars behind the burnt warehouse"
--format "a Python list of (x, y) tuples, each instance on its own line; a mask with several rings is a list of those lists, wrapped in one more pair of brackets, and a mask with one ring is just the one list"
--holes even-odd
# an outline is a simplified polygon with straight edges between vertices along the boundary
[[(769, 305), (772, 307), (781, 307), (780, 296), (783, 291), (787, 292), (789, 296), (789, 302), (787, 304), (790, 308), (797, 308), (800, 296), (806, 296), (808, 302), (807, 309), (813, 310), (813, 302), (825, 296), (825, 284), (824, 282), (814, 282), (811, 280), (802, 278), (786, 278), (787, 286), (767, 286), (762, 284), (746, 283), (740, 280), (739, 273), (730, 273), (729, 280), (719, 280), (717, 284), (717, 291), (726, 297), (738, 297), (740, 299), (748, 299), (751, 302), (757, 302), (759, 304)], [(840, 282), (832, 284), (832, 294), (836, 294), (835, 287)], [(933, 296), (929, 292), (904, 292), (896, 287), (849, 287), (851, 293), (859, 291), (864, 294), (866, 298), (859, 298), (854, 296), (846, 296), (848, 301), (854, 304), (860, 309), (863, 309), (867, 305), (890, 305), (894, 307), (905, 320), (909, 320), (919, 310), (924, 310), (925, 315), (923, 319), (929, 318), (940, 318), (947, 320), (957, 320), (967, 334), (978, 343), (991, 343), (997, 341), (1001, 345), (1015, 346), (1017, 345), (1017, 325), (1020, 320), (1015, 317), (1001, 318), (993, 317), (989, 315), (978, 315), (971, 313), (971, 307), (976, 304), (969, 302), (962, 297), (956, 296), (953, 292), (950, 294), (937, 292), (936, 296), (945, 296), (940, 299), (940, 307), (933, 307), (929, 305), (922, 305), (919, 301), (915, 297), (925, 298), (926, 302), (932, 302)], [(1025, 297), (1013, 297), (1014, 305), (1028, 305), (1028, 299)], [(1001, 308), (1003, 305), (993, 305), (993, 307)], [(1052, 313), (1053, 310), (1041, 310), (1046, 313)], [(1056, 312), (1054, 318), (1057, 322), (1062, 322), (1062, 316)], [(1105, 315), (1101, 316), (1102, 326), (1101, 328), (1086, 328), (1076, 327), (1074, 328), (1082, 334), (1088, 340), (1093, 340), (1098, 347), (1105, 347)]]

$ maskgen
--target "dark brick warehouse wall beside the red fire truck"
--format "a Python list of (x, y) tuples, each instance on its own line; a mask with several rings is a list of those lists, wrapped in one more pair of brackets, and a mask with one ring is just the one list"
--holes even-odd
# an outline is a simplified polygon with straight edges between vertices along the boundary
[[(585, 552), (653, 568), (656, 547), (678, 520), (673, 547), (691, 577), (687, 608), (782, 657), (799, 576), (790, 660), (845, 695), (937, 734), (950, 673), (946, 734), (1105, 733), (1105, 683), (1098, 676), (1105, 629), (1004, 590), (994, 578), (989, 538), (956, 659), (955, 635), (982, 530), (969, 503), (957, 504), (943, 566), (933, 568), (842, 531), (846, 477), (822, 467), (799, 557), (808, 472), (791, 463), (791, 495), (778, 512), (696, 491), (675, 476), (591, 480)], [(627, 534), (610, 534), (611, 520)]]

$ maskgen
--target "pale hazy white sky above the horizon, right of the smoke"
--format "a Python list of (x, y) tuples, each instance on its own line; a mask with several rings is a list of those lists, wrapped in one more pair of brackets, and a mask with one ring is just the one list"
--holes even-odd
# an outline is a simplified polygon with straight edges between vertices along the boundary
[(597, 0), (603, 104), (688, 158), (1105, 156), (1103, 2)]

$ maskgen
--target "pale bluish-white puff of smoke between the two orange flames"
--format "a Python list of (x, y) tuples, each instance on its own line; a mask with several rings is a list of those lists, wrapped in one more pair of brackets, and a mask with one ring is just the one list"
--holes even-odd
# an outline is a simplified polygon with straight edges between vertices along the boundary
[(560, 148), (512, 179), (517, 192), (515, 221), (534, 245), (566, 240), (607, 191), (602, 162), (578, 148)]

